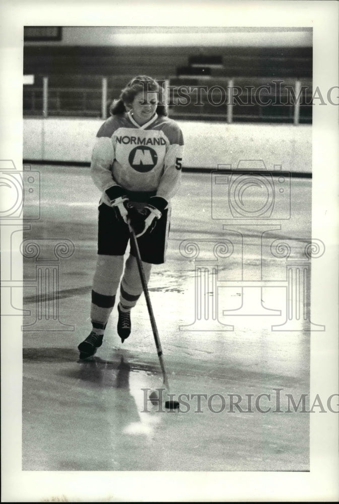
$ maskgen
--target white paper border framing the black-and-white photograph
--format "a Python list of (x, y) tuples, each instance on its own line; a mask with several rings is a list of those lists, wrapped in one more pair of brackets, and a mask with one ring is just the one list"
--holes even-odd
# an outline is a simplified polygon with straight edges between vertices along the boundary
[[(2, 159), (22, 166), (23, 27), (60, 26), (311, 26), (314, 86), (337, 85), (336, 2), (106, 2), (5, 0), (0, 8)], [(179, 6), (180, 4), (180, 6)], [(178, 15), (179, 13), (179, 15)], [(72, 17), (71, 17), (72, 16)], [(73, 22), (73, 23), (72, 23)], [(312, 261), (311, 397), (337, 392), (338, 108), (314, 106), (312, 236), (326, 254)], [(326, 177), (324, 177), (324, 172)], [(330, 267), (328, 267), (330, 265)], [(18, 260), (18, 268), (22, 264)], [(330, 302), (328, 302), (330, 300)], [(310, 418), (310, 472), (49, 472), (21, 471), (22, 333), (20, 317), (2, 319), (2, 501), (335, 501), (338, 427), (335, 414)], [(15, 401), (13, 400), (15, 398)]]

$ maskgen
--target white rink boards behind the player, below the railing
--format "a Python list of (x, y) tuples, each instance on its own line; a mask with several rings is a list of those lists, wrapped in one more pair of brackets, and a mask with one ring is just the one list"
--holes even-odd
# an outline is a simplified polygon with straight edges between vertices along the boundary
[[(24, 119), (23, 158), (34, 161), (90, 162), (102, 119)], [(268, 170), (312, 172), (312, 126), (226, 124), (177, 121), (185, 141), (183, 166), (217, 168), (239, 160), (262, 159)]]

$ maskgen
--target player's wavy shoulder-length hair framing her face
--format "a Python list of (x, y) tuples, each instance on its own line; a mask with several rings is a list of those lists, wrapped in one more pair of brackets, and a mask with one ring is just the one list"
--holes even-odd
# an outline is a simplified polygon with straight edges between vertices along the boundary
[(158, 93), (158, 106), (156, 113), (158, 115), (167, 115), (166, 104), (163, 103), (164, 89), (157, 81), (148, 75), (139, 75), (128, 82), (127, 86), (121, 91), (118, 100), (114, 100), (110, 106), (111, 115), (119, 115), (126, 112), (125, 104), (130, 104), (134, 97), (140, 92)]

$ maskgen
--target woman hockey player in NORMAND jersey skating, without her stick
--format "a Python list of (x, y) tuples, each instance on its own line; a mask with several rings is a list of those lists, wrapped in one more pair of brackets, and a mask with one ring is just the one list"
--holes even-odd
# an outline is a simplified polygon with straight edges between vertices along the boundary
[(91, 162), (92, 178), (102, 197), (92, 287), (93, 327), (78, 346), (81, 359), (94, 355), (101, 346), (119, 283), (117, 332), (122, 343), (128, 338), (130, 310), (143, 292), (132, 249), (123, 264), (128, 222), (137, 236), (149, 281), (152, 264), (165, 262), (170, 200), (181, 176), (182, 133), (167, 117), (163, 89), (154, 79), (132, 79), (113, 102), (111, 115), (99, 129)]

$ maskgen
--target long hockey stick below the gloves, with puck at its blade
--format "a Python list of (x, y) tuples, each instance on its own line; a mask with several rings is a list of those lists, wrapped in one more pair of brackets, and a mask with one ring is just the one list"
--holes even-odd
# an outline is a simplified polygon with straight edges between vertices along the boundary
[[(143, 285), (143, 290), (144, 290), (144, 294), (145, 294), (145, 298), (146, 298), (146, 304), (147, 304), (147, 309), (148, 309), (149, 316), (150, 316), (150, 321), (151, 321), (151, 326), (152, 326), (154, 341), (155, 341), (155, 345), (156, 345), (156, 348), (157, 348), (159, 362), (160, 362), (161, 370), (162, 370), (163, 377), (164, 377), (164, 385), (165, 385), (166, 389), (169, 392), (169, 383), (168, 383), (168, 380), (167, 380), (167, 374), (166, 374), (165, 364), (164, 364), (164, 360), (163, 360), (163, 357), (162, 357), (162, 348), (161, 348), (161, 343), (160, 343), (158, 328), (157, 328), (157, 324), (156, 324), (154, 313), (153, 313), (153, 308), (152, 308), (152, 304), (151, 304), (151, 298), (150, 298), (150, 294), (149, 294), (149, 290), (148, 290), (148, 286), (147, 286), (147, 281), (146, 281), (146, 277), (145, 277), (145, 272), (144, 272), (144, 268), (143, 268), (142, 259), (141, 259), (141, 256), (140, 256), (139, 245), (138, 245), (137, 237), (135, 236), (134, 230), (132, 229), (132, 227), (130, 226), (129, 223), (128, 223), (128, 228), (129, 228), (130, 240), (131, 240), (133, 251), (134, 251), (134, 254), (135, 254), (135, 259), (137, 260), (137, 265), (138, 265), (138, 270), (139, 270), (139, 274), (140, 274), (141, 283)], [(165, 402), (165, 407), (169, 408), (169, 409), (175, 409), (175, 408), (179, 407), (179, 403), (177, 401), (166, 401)]]

